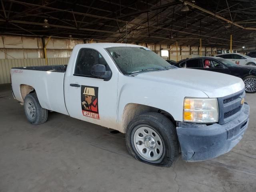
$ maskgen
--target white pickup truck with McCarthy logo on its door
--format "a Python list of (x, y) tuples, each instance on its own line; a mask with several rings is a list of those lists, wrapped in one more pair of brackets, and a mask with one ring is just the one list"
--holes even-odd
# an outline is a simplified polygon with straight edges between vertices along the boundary
[(134, 158), (157, 166), (229, 152), (249, 123), (240, 78), (176, 68), (138, 45), (76, 45), (67, 66), (12, 68), (11, 80), (32, 124), (55, 111), (118, 130)]

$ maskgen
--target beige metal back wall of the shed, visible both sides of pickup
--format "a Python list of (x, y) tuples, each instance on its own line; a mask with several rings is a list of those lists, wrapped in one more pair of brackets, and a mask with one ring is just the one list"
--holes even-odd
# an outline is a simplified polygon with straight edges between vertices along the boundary
[[(47, 40), (48, 38), (0, 35), (0, 84), (10, 83), (10, 68), (12, 67), (45, 65), (43, 42)], [(68, 64), (68, 59), (76, 44), (100, 42), (106, 41), (51, 38), (46, 47), (48, 64)], [(172, 45), (141, 43), (139, 45), (150, 48), (160, 56), (161, 50), (168, 50), (169, 57), (163, 56), (163, 58), (177, 60), (176, 43)], [(202, 47), (202, 56), (216, 54), (216, 50), (216, 48)], [(191, 46), (191, 48), (190, 46), (178, 46), (178, 61), (198, 57), (199, 54), (198, 46)]]

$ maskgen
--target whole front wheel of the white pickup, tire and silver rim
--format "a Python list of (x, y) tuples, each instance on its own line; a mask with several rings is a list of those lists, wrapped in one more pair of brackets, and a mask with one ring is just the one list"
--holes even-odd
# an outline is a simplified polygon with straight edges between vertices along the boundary
[(156, 166), (172, 166), (179, 154), (176, 127), (164, 115), (154, 112), (130, 122), (126, 146), (134, 158)]

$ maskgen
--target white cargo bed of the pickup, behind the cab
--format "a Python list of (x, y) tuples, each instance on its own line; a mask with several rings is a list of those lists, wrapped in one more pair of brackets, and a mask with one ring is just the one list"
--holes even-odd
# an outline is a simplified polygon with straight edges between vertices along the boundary
[(63, 87), (65, 71), (64, 65), (12, 68), (12, 90), (16, 100), (24, 102), (21, 87), (28, 85), (36, 91), (42, 108), (68, 115)]

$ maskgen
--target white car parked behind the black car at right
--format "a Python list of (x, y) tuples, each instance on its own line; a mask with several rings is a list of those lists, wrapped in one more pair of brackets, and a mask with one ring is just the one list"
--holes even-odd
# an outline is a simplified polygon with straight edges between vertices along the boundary
[(216, 57), (227, 59), (237, 65), (256, 66), (256, 59), (240, 53), (219, 54), (219, 55), (216, 55)]

